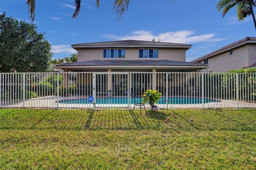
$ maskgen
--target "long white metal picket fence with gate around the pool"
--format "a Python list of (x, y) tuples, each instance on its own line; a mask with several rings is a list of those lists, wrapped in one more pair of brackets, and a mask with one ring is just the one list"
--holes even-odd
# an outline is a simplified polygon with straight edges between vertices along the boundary
[(147, 89), (165, 109), (256, 107), (256, 73), (0, 73), (0, 85), (0, 107), (130, 108)]

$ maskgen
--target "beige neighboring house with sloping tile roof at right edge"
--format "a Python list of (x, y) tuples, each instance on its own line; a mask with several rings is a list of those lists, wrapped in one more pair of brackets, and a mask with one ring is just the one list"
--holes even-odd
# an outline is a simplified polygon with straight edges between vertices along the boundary
[(220, 73), (232, 69), (256, 68), (256, 37), (246, 37), (191, 62), (210, 66), (200, 72)]

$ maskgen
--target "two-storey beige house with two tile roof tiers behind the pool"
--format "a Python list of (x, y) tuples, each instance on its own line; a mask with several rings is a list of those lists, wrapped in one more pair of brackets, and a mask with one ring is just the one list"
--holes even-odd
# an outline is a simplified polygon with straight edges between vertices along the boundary
[[(186, 50), (190, 49), (191, 46), (180, 43), (138, 40), (74, 44), (72, 47), (78, 51), (78, 61), (58, 64), (56, 68), (61, 68), (64, 72), (146, 72), (148, 73), (146, 75), (142, 73), (132, 75), (132, 79), (136, 80), (133, 82), (134, 87), (132, 88), (144, 85), (145, 87), (140, 88), (143, 91), (148, 88), (146, 84), (150, 82), (156, 84), (157, 80), (160, 83), (167, 80), (166, 77), (162, 77), (161, 73), (154, 76), (149, 75), (152, 72), (200, 72), (200, 69), (208, 68), (209, 66), (204, 63), (186, 62)], [(171, 83), (175, 81), (176, 77), (172, 78), (170, 74), (168, 76)], [(88, 79), (85, 78), (82, 82), (77, 82), (79, 85), (81, 83), (84, 85), (84, 83), (88, 83)], [(110, 83), (108, 82), (121, 82), (127, 79), (127, 76), (121, 78), (105, 76), (100, 81), (104, 84), (102, 86), (108, 84), (107, 89), (109, 90)], [(182, 81), (177, 82), (177, 86), (183, 84)], [(162, 85), (158, 86), (160, 88)], [(111, 89), (113, 88), (111, 87)]]

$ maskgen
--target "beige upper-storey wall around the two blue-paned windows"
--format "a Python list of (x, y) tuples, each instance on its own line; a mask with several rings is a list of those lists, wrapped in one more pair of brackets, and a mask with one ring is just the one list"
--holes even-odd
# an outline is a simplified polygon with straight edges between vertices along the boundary
[[(179, 48), (117, 48), (125, 49), (125, 58), (103, 58), (105, 48), (83, 48), (78, 49), (78, 61), (109, 60), (109, 59), (156, 59), (186, 61), (186, 49)], [(113, 49), (113, 48), (111, 48)], [(159, 49), (158, 58), (139, 58), (139, 49)]]

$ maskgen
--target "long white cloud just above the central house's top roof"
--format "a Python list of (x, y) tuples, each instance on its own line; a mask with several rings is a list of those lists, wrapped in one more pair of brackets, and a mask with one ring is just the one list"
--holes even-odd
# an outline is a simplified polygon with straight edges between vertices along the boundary
[(112, 38), (115, 40), (144, 40), (152, 41), (153, 38), (155, 41), (160, 40), (160, 42), (172, 42), (172, 43), (197, 43), (197, 42), (213, 42), (213, 41), (222, 41), (223, 38), (214, 38), (215, 34), (202, 34), (194, 35), (194, 31), (182, 30), (177, 32), (163, 32), (154, 34), (151, 31), (147, 30), (138, 30), (124, 36), (115, 36), (113, 34), (102, 35), (107, 38)]

